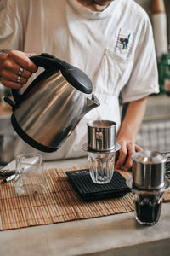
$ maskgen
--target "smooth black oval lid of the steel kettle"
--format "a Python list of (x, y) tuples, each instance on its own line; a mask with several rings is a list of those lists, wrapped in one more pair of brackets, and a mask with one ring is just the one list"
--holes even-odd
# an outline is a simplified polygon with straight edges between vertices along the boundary
[(92, 82), (88, 78), (88, 75), (77, 67), (73, 67), (70, 64), (68, 68), (62, 68), (61, 73), (65, 79), (74, 86), (77, 90), (86, 94), (91, 94), (93, 90)]

